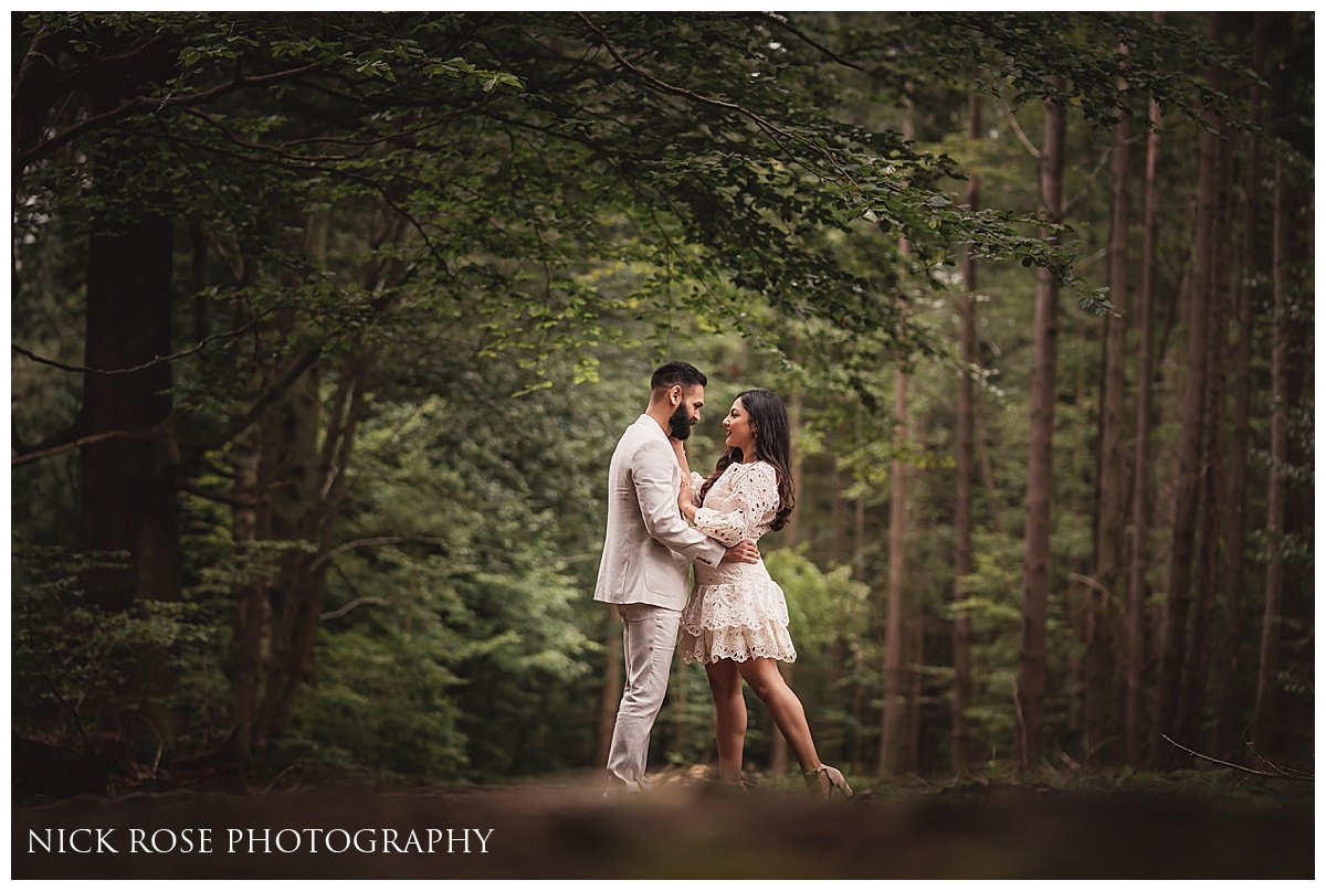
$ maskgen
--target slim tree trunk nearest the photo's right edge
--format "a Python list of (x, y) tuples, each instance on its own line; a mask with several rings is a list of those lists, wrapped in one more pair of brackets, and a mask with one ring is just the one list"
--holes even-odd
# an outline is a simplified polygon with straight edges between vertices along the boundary
[(1289, 461), (1289, 403), (1286, 351), (1289, 346), (1289, 208), (1285, 200), (1285, 162), (1276, 158), (1274, 212), (1272, 216), (1272, 289), (1274, 339), (1270, 358), (1270, 481), (1266, 495), (1266, 599), (1261, 618), (1261, 656), (1257, 663), (1257, 700), (1253, 705), (1252, 742), (1270, 742), (1276, 709), (1276, 667), (1280, 656), (1280, 605), (1285, 586), (1282, 554), (1285, 533), (1285, 471)]

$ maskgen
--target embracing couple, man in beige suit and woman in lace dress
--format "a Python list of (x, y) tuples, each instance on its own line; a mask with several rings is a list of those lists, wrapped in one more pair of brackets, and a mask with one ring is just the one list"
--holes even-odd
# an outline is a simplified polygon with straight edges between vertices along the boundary
[[(741, 782), (747, 711), (743, 680), (764, 701), (812, 792), (850, 797), (842, 773), (819, 762), (801, 700), (777, 662), (797, 652), (788, 603), (756, 542), (793, 509), (788, 411), (749, 390), (723, 419), (727, 451), (708, 477), (692, 473), (684, 440), (700, 419), (708, 378), (668, 362), (650, 404), (613, 452), (607, 537), (594, 599), (622, 617), (626, 684), (607, 756), (607, 793), (647, 785), (650, 731), (667, 693), (678, 631), (682, 658), (704, 663), (717, 725), (719, 781)], [(695, 587), (687, 599), (691, 564)]]

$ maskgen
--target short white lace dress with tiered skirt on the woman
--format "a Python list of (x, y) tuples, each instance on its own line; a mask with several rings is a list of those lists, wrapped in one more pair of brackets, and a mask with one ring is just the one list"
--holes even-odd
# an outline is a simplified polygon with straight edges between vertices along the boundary
[[(704, 477), (691, 475), (699, 496)], [(699, 504), (699, 503), (697, 503)], [(740, 541), (760, 541), (778, 510), (778, 481), (772, 464), (731, 464), (713, 481), (704, 505), (695, 514), (695, 528), (728, 548)], [(797, 651), (788, 634), (788, 599), (758, 564), (695, 564), (695, 590), (682, 613), (682, 659), (766, 658), (796, 662)]]

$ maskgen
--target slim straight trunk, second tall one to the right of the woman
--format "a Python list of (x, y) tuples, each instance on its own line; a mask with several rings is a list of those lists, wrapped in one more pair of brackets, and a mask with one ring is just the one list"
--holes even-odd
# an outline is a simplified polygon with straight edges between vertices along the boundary
[[(967, 135), (981, 138), (981, 99), (968, 98)], [(980, 179), (967, 180), (967, 206), (980, 204)], [(967, 615), (967, 577), (972, 574), (972, 476), (976, 383), (972, 381), (980, 357), (976, 351), (976, 259), (963, 249), (963, 293), (957, 298), (961, 324), (963, 370), (957, 377), (957, 503), (953, 508), (953, 708), (949, 736), (949, 764), (955, 772), (967, 769), (967, 704), (972, 691), (971, 621)]]

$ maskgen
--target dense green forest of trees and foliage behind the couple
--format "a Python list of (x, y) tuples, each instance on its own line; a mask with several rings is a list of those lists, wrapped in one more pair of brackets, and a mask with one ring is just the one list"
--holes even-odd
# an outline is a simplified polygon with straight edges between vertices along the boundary
[[(1310, 780), (1314, 49), (13, 13), (13, 794), (602, 769), (607, 465), (668, 359), (696, 469), (737, 392), (789, 406), (761, 550), (858, 785)], [(679, 662), (651, 769), (713, 760)]]

